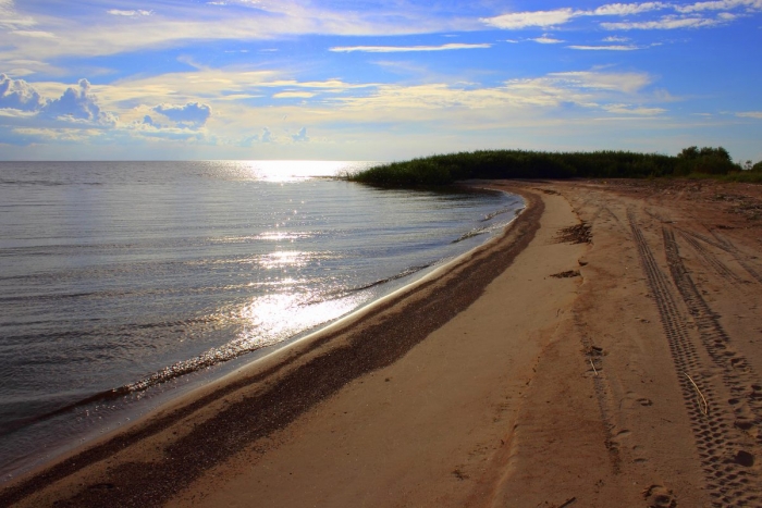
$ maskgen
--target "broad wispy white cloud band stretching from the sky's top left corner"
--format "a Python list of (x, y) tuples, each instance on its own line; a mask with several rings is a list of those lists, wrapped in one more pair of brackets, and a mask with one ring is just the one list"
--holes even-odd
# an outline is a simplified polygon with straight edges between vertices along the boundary
[[(28, 9), (38, 8), (36, 2), (32, 3)], [(107, 2), (97, 0), (95, 3)], [(128, 10), (73, 8), (72, 15), (61, 14), (65, 10), (57, 9), (38, 20), (0, 8), (0, 27), (28, 29), (38, 25), (35, 30), (54, 33), (65, 44), (36, 39), (36, 44), (19, 44), (5, 51), (7, 58), (50, 61), (59, 57), (99, 57), (182, 47), (198, 40), (273, 40), (303, 35), (390, 36), (462, 32), (482, 26), (475, 17), (452, 16), (434, 8), (428, 8), (427, 15), (415, 15), (383, 3), (368, 10), (331, 5), (333, 2), (325, 5), (324, 2), (290, 0), (229, 3), (231, 9), (167, 1), (160, 4), (161, 15), (149, 15), (155, 4), (147, 2), (133, 2), (134, 7)], [(423, 14), (423, 9), (419, 10)], [(127, 18), (130, 23), (124, 22)]]

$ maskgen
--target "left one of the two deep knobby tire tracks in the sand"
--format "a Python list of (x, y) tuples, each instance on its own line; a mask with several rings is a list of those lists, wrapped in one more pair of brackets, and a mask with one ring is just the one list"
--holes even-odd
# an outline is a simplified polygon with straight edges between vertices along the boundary
[[(706, 479), (706, 492), (716, 507), (752, 506), (761, 499), (758, 495), (758, 479), (751, 470), (734, 460), (735, 444), (742, 437), (740, 431), (730, 423), (733, 413), (718, 402), (717, 388), (713, 386), (712, 381), (698, 374), (703, 370), (703, 365), (690, 339), (686, 321), (678, 310), (669, 281), (659, 268), (631, 210), (628, 211), (628, 219), (640, 264), (667, 337), (701, 468)], [(686, 373), (691, 375), (706, 399), (709, 414), (703, 413), (696, 388)]]

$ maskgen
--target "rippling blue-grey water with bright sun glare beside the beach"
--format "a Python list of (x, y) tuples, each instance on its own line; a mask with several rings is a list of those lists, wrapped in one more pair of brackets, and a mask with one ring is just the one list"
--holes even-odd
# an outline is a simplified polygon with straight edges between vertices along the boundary
[(0, 163), (2, 479), (408, 284), (523, 207), (324, 177), (367, 165)]

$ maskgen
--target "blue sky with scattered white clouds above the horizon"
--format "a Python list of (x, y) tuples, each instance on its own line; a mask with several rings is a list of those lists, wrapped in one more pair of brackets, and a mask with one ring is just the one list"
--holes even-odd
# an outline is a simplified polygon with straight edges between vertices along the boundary
[(690, 146), (762, 160), (762, 0), (0, 0), (0, 160)]

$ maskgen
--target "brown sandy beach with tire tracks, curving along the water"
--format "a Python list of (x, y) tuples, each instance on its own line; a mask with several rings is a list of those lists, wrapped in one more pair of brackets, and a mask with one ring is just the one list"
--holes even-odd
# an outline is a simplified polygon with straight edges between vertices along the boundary
[(0, 506), (762, 505), (762, 187), (471, 185), (502, 238)]

